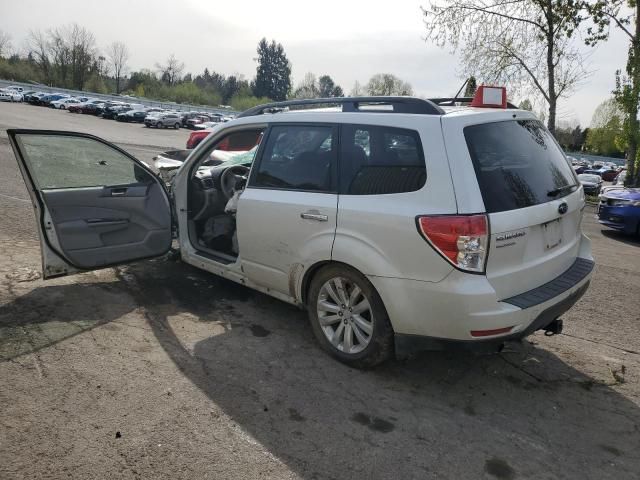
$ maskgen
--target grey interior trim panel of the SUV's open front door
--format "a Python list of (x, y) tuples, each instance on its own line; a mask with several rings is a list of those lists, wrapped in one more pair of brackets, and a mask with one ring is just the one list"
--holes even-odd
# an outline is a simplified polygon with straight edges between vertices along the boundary
[(77, 267), (157, 256), (171, 244), (170, 208), (157, 183), (41, 193), (62, 253)]

